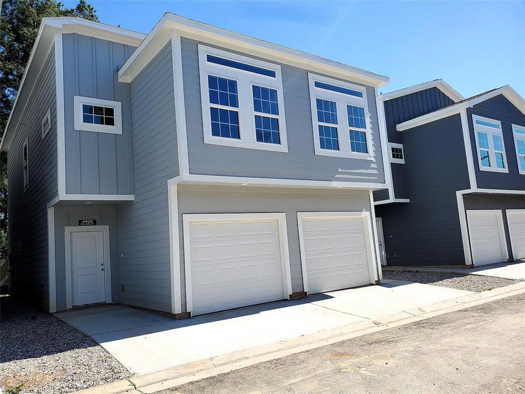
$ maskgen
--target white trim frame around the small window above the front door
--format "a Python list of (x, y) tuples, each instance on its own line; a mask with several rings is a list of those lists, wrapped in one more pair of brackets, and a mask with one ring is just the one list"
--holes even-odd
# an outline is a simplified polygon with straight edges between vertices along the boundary
[[(82, 117), (82, 106), (98, 106), (112, 108), (114, 125), (98, 125), (86, 123)], [(99, 133), (122, 134), (122, 103), (120, 101), (103, 100), (94, 97), (74, 96), (75, 130), (96, 131)], [(105, 110), (104, 110), (105, 112)]]

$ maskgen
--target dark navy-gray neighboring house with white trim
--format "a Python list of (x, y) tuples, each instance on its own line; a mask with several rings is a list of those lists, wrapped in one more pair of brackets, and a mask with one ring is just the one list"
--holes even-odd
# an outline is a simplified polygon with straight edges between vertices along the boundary
[(387, 189), (374, 192), (382, 264), (525, 258), (525, 100), (510, 86), (465, 99), (435, 80), (379, 101), (390, 161)]

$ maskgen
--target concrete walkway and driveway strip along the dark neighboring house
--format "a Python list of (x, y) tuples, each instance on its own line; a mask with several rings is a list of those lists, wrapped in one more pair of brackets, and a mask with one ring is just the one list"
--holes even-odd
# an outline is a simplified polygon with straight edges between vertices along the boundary
[(388, 267), (384, 266), (385, 271), (416, 271), (416, 272), (454, 272), (458, 274), (472, 274), (496, 276), (499, 278), (518, 279), (525, 281), (525, 260), (512, 263), (499, 263), (484, 265), (476, 268), (439, 268), (439, 267)]

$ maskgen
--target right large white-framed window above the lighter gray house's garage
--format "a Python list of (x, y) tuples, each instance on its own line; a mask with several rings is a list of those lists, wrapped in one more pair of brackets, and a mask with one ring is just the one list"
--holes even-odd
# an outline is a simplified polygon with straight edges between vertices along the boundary
[(372, 160), (366, 89), (308, 74), (315, 153)]

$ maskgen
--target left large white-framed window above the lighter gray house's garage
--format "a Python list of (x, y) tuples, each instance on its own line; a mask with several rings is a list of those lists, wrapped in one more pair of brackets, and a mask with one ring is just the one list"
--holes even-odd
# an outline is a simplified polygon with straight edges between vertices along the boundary
[(288, 152), (281, 68), (198, 46), (204, 143)]

